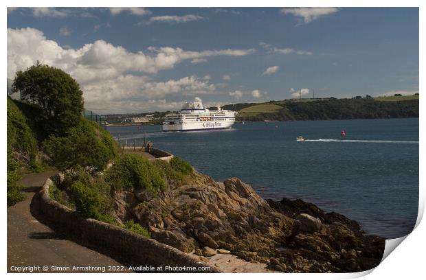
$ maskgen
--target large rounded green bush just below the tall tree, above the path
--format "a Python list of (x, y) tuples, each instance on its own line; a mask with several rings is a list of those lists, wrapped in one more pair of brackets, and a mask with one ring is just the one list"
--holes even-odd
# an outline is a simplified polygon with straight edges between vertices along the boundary
[(82, 119), (80, 126), (70, 128), (64, 137), (51, 135), (43, 142), (43, 150), (60, 170), (80, 165), (99, 172), (117, 155), (117, 145), (111, 135), (87, 119)]

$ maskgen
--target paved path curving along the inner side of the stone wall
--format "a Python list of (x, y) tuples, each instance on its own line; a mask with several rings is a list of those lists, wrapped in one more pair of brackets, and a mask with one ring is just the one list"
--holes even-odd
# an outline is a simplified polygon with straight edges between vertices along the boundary
[(108, 266), (122, 266), (114, 259), (63, 239), (31, 215), (32, 197), (55, 173), (27, 174), (20, 181), (26, 188), (27, 199), (8, 208), (8, 272), (23, 266), (40, 266), (41, 272), (43, 266), (49, 266), (50, 272), (52, 266), (102, 266), (106, 270)]

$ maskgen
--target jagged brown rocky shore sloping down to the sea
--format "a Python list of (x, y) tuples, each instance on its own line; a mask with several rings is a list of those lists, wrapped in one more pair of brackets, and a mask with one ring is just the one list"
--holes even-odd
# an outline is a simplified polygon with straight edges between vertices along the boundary
[[(238, 178), (223, 183), (195, 172), (147, 191), (115, 191), (118, 222), (135, 220), (151, 237), (223, 271), (357, 272), (377, 266), (385, 240), (339, 213), (302, 200), (264, 200)], [(261, 270), (261, 271), (258, 271)]]

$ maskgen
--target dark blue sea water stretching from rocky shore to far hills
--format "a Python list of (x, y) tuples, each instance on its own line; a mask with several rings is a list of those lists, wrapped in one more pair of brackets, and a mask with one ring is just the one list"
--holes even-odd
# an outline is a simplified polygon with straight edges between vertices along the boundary
[[(348, 141), (339, 141), (342, 129)], [(236, 176), (264, 198), (302, 198), (342, 213), (372, 234), (401, 237), (416, 223), (418, 119), (257, 122), (205, 132), (108, 130), (128, 145), (146, 137), (216, 180)], [(299, 135), (329, 140), (295, 141)]]

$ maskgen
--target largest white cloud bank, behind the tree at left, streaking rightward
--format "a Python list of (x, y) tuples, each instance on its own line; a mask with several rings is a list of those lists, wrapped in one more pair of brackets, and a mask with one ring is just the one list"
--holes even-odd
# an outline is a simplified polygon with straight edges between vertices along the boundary
[[(210, 82), (210, 75), (155, 81), (143, 73), (172, 69), (183, 60), (253, 53), (253, 50), (240, 49), (184, 51), (162, 47), (149, 48), (145, 54), (143, 51), (127, 51), (104, 40), (96, 40), (80, 49), (65, 49), (33, 28), (9, 28), (7, 34), (8, 78), (13, 79), (16, 71), (27, 69), (37, 60), (58, 67), (77, 80), (84, 93), (85, 106), (98, 110), (98, 113), (126, 112), (126, 104), (133, 104), (129, 108), (139, 108), (135, 105), (137, 102), (165, 100), (172, 96), (176, 99), (182, 95), (216, 94), (220, 86)], [(153, 104), (152, 110), (168, 106), (163, 104), (160, 107), (161, 102)]]

